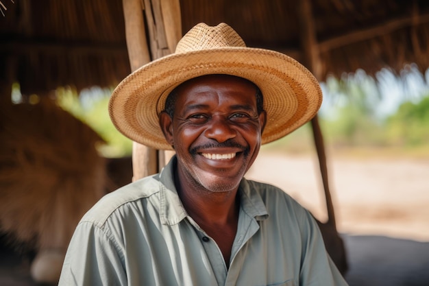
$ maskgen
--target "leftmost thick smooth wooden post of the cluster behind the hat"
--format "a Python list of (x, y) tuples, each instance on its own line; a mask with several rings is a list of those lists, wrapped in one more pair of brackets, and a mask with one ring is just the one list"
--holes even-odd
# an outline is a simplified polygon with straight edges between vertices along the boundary
[[(143, 7), (140, 0), (123, 0), (123, 14), (131, 71), (135, 71), (151, 60), (143, 21)], [(155, 174), (158, 171), (157, 157), (157, 152), (153, 148), (134, 142), (132, 148), (132, 180), (135, 181)]]

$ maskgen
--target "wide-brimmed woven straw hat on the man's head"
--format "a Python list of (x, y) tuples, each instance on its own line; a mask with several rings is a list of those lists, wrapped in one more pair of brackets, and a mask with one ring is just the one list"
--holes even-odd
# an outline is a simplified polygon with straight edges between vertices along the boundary
[(267, 111), (262, 144), (299, 128), (321, 105), (319, 83), (302, 64), (283, 53), (246, 47), (225, 23), (199, 23), (179, 41), (175, 53), (145, 64), (117, 86), (110, 118), (133, 141), (171, 150), (158, 122), (165, 100), (182, 82), (208, 74), (236, 75), (260, 88)]

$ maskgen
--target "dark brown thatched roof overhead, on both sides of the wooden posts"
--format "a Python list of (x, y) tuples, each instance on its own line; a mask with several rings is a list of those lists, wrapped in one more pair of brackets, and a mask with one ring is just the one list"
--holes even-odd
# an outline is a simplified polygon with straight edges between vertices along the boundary
[[(121, 0), (2, 2), (8, 10), (0, 16), (0, 62), (6, 63), (0, 78), (19, 81), (23, 93), (114, 86), (130, 73)], [(309, 0), (309, 9), (298, 6), (305, 2), (183, 0), (182, 27), (225, 21), (248, 46), (301, 61), (310, 39), (320, 80), (359, 68), (372, 74), (410, 62), (421, 71), (429, 67), (429, 1)]]

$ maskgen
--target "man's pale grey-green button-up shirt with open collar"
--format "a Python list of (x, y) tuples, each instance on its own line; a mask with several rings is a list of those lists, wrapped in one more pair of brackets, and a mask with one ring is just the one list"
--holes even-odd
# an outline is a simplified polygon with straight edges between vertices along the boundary
[(180, 202), (175, 160), (84, 215), (59, 285), (347, 285), (308, 211), (280, 189), (245, 179), (227, 269), (217, 243)]

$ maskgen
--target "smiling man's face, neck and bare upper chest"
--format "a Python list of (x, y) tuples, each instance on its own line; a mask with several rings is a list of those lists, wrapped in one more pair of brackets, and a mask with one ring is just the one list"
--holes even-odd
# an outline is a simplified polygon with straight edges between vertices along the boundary
[(214, 239), (229, 267), (238, 224), (238, 185), (260, 148), (266, 113), (256, 87), (228, 75), (206, 75), (177, 88), (173, 118), (160, 114), (175, 149), (175, 186), (184, 208)]

